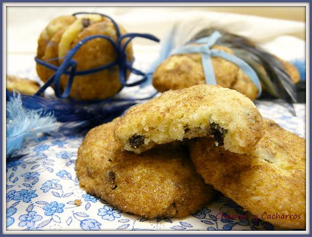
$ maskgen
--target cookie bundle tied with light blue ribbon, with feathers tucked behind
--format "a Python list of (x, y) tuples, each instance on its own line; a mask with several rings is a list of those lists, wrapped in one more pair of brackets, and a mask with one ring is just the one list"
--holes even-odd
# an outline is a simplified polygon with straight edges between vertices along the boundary
[[(300, 75), (291, 63), (245, 37), (205, 25), (194, 32), (183, 23), (175, 25), (162, 42), (160, 57), (151, 68), (158, 91), (206, 83), (234, 89), (252, 100), (265, 92), (263, 96), (296, 102), (294, 84)], [(186, 32), (192, 32), (191, 39)]]

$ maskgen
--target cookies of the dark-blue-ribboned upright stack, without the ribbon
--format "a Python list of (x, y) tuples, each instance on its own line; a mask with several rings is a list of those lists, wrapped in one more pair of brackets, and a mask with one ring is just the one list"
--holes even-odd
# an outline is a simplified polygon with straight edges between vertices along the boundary
[[(117, 34), (114, 24), (111, 20), (101, 17), (98, 14), (88, 14), (76, 18), (71, 24), (63, 25), (49, 39), (44, 53), (40, 45), (38, 46), (39, 59), (45, 60), (53, 65), (59, 66), (67, 52), (72, 49), (80, 40), (92, 35), (105, 35), (115, 42)], [(118, 25), (121, 34), (126, 31)], [(39, 41), (41, 36), (39, 38)], [(122, 44), (127, 39), (122, 40)], [(126, 47), (127, 61), (133, 60), (132, 44)], [(97, 68), (99, 66), (114, 62), (116, 60), (114, 47), (105, 39), (93, 39), (86, 42), (73, 59), (77, 61), (77, 71)], [(118, 66), (111, 67), (96, 73), (83, 76), (75, 76), (70, 97), (77, 100), (106, 99), (114, 96), (120, 89)], [(55, 71), (37, 64), (37, 72), (42, 81), (47, 81)], [(127, 72), (129, 77), (130, 72)], [(63, 75), (60, 80), (61, 89), (67, 85), (68, 75)]]

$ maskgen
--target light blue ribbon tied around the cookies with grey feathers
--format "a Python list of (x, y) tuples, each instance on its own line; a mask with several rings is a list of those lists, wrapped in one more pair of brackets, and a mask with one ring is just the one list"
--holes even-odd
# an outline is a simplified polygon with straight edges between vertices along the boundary
[(204, 69), (204, 75), (206, 84), (216, 85), (215, 81), (215, 72), (211, 62), (211, 57), (220, 57), (222, 59), (226, 59), (228, 61), (233, 62), (238, 67), (240, 67), (243, 72), (252, 80), (254, 85), (258, 88), (258, 97), (261, 95), (262, 87), (260, 84), (260, 80), (257, 74), (254, 72), (253, 68), (249, 66), (244, 60), (232, 55), (228, 54), (219, 49), (210, 49), (221, 37), (221, 34), (218, 31), (215, 31), (211, 36), (204, 37), (199, 40), (196, 40), (194, 43), (199, 44), (199, 46), (182, 46), (180, 48), (174, 49), (170, 55), (180, 55), (180, 54), (191, 54), (191, 53), (199, 53), (201, 54), (201, 61)]

